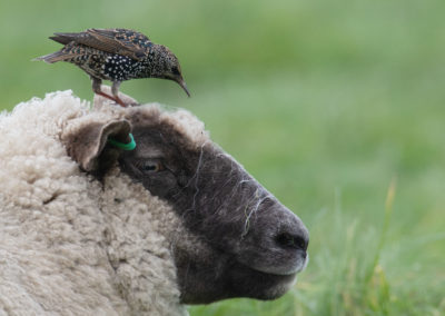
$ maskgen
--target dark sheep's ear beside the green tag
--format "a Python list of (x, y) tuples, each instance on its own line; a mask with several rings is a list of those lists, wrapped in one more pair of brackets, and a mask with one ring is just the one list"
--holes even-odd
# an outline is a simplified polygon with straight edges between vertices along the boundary
[(117, 160), (122, 150), (108, 144), (108, 139), (128, 144), (131, 141), (130, 132), (131, 125), (128, 120), (91, 122), (67, 138), (67, 152), (83, 170), (101, 172)]

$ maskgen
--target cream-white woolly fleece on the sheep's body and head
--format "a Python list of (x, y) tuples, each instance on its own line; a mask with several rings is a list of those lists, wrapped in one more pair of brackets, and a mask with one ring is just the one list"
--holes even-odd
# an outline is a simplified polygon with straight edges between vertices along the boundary
[[(0, 315), (187, 314), (168, 244), (184, 228), (171, 207), (118, 168), (102, 186), (67, 156), (63, 135), (87, 115), (127, 111), (99, 108), (59, 91), (0, 115)], [(187, 111), (162, 118), (207, 137)]]

